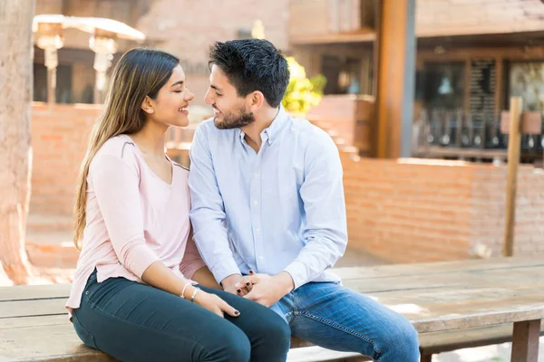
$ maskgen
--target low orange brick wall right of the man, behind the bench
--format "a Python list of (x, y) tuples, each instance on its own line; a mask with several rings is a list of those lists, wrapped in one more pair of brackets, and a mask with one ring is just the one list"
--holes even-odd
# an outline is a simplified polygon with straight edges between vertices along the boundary
[[(351, 247), (391, 262), (466, 259), (476, 245), (500, 254), (506, 167), (342, 159)], [(520, 167), (516, 254), (544, 252), (542, 206), (544, 173)]]

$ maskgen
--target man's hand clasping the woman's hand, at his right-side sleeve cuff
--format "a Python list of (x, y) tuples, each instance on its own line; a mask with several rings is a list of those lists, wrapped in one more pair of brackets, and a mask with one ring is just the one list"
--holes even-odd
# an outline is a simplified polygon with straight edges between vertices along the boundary
[(257, 301), (265, 307), (273, 306), (288, 292), (295, 289), (293, 278), (287, 271), (282, 271), (274, 276), (254, 274), (246, 278), (251, 283), (251, 291), (244, 298)]

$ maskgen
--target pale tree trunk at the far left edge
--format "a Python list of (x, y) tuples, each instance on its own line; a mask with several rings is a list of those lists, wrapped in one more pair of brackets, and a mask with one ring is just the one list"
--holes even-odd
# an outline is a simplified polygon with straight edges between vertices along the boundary
[(34, 0), (0, 2), (0, 262), (15, 284), (30, 277), (24, 251), (30, 198)]

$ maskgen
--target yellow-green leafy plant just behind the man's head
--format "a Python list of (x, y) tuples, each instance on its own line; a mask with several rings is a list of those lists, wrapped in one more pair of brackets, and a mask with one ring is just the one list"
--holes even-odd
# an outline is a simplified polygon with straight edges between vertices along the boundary
[(306, 113), (323, 97), (326, 84), (325, 76), (318, 74), (310, 79), (306, 78), (304, 67), (293, 57), (287, 57), (287, 64), (291, 77), (286, 95), (281, 103), (287, 111)]

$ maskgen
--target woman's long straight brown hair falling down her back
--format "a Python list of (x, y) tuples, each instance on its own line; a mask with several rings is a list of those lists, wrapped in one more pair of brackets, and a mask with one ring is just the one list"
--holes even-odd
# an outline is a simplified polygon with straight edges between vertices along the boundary
[(157, 98), (159, 90), (179, 64), (180, 60), (168, 52), (138, 48), (124, 53), (113, 69), (104, 110), (92, 127), (77, 179), (73, 207), (73, 243), (77, 248), (82, 245), (86, 224), (87, 175), (92, 158), (108, 139), (142, 129), (145, 115), (141, 103), (146, 96), (153, 100)]

